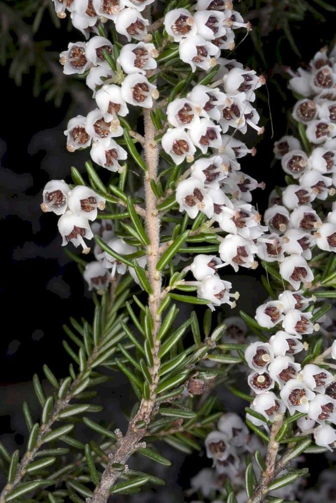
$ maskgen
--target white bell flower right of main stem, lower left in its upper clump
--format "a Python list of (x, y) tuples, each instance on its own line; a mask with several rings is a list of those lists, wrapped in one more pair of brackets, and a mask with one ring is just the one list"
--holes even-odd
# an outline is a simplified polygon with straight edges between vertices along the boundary
[(181, 164), (184, 159), (193, 161), (196, 148), (192, 144), (189, 135), (182, 128), (168, 128), (161, 139), (161, 145), (175, 164)]

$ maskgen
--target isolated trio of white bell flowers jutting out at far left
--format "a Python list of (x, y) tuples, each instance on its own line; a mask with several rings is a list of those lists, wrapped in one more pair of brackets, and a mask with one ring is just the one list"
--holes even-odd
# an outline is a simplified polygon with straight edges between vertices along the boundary
[(81, 245), (84, 254), (90, 251), (84, 237), (93, 237), (89, 220), (95, 220), (97, 210), (104, 208), (105, 199), (92, 189), (81, 185), (70, 189), (64, 180), (51, 180), (43, 191), (42, 211), (61, 215), (58, 230), (63, 238), (62, 246), (71, 241), (76, 247)]

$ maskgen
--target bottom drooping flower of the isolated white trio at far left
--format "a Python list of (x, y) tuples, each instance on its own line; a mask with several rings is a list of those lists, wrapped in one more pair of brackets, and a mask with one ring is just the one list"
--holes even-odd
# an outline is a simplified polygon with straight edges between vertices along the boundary
[(82, 253), (88, 254), (90, 248), (86, 246), (83, 239), (92, 239), (93, 234), (87, 218), (81, 215), (75, 215), (71, 211), (66, 211), (58, 220), (58, 230), (63, 238), (62, 246), (68, 244), (69, 241), (77, 248), (81, 245)]

